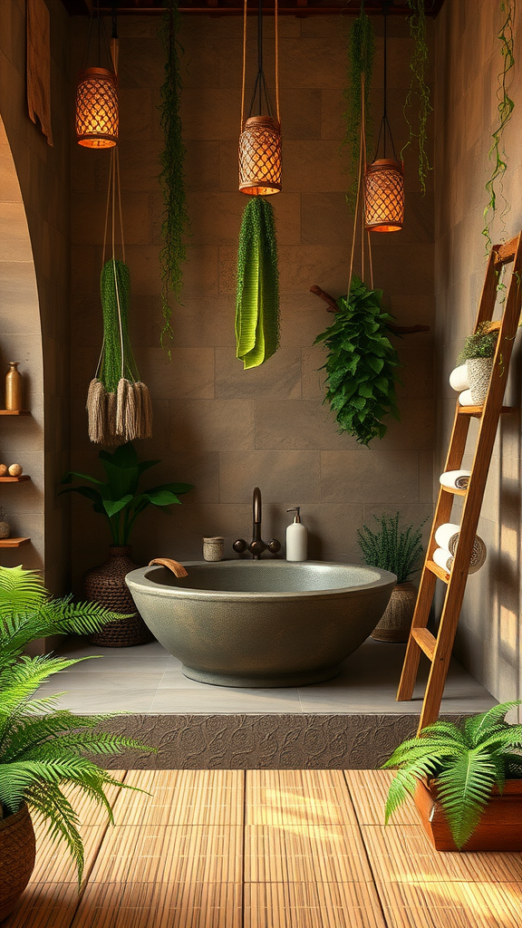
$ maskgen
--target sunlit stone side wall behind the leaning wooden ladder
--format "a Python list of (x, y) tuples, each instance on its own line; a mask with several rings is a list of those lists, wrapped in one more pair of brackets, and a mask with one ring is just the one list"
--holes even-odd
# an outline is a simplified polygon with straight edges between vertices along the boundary
[[(496, 91), (502, 56), (497, 33), (502, 19), (495, 0), (474, 4), (451, 0), (436, 21), (436, 479), (444, 465), (454, 413), (455, 394), (448, 375), (464, 336), (473, 329), (486, 271), (481, 231), (489, 200), (485, 185), (493, 167), (488, 158), (491, 133), (498, 125)], [(522, 228), (521, 80), (516, 60), (509, 79), (515, 113), (504, 135), (507, 172), (491, 226), (493, 242), (508, 240)], [(522, 684), (520, 353), (518, 337), (504, 401), (516, 411), (501, 420), (478, 529), (489, 548), (488, 561), (468, 580), (457, 645), (463, 664), (499, 700), (519, 698)], [(475, 439), (476, 423), (470, 430), (467, 462)], [(454, 515), (459, 521), (458, 503)]]

